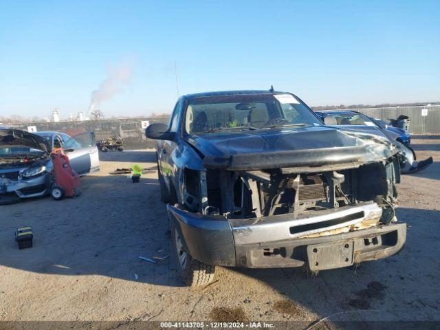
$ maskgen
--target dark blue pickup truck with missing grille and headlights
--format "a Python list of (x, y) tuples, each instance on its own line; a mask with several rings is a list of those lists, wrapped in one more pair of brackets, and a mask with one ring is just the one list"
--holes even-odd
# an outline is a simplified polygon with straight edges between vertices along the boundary
[(325, 126), (276, 91), (182, 96), (154, 123), (177, 270), (210, 283), (215, 265), (312, 272), (399, 252), (401, 149), (384, 135)]

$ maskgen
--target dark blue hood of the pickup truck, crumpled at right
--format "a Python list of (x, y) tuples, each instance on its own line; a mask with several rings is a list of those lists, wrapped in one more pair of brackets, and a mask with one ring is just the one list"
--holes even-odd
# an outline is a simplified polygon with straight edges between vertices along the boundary
[(281, 127), (188, 137), (206, 168), (251, 170), (379, 162), (399, 149), (380, 130), (331, 126)]

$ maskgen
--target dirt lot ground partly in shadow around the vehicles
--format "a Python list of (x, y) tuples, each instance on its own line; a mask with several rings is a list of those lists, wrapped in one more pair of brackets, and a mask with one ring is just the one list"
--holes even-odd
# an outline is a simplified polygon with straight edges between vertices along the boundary
[[(351, 312), (333, 320), (440, 320), (440, 135), (412, 143), (419, 159), (432, 155), (434, 164), (398, 187), (397, 214), (409, 225), (400, 254), (314, 277), (219, 268), (218, 281), (199, 291), (181, 286), (170, 258), (137, 259), (170, 254), (156, 171), (140, 184), (109, 175), (131, 164), (152, 168), (154, 152), (102, 154), (100, 174), (83, 178), (81, 197), (0, 206), (0, 320), (311, 322), (342, 311)], [(17, 248), (21, 225), (34, 228), (34, 248)]]

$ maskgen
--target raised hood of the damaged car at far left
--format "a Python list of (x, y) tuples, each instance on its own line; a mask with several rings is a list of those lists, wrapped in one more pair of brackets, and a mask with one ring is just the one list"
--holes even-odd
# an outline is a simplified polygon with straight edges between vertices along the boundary
[(35, 135), (21, 129), (0, 129), (0, 146), (9, 148), (34, 148), (50, 153), (50, 143), (43, 137)]

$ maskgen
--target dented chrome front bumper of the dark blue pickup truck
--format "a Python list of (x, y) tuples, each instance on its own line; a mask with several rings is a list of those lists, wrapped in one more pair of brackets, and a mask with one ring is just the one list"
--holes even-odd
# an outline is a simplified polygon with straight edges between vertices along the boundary
[[(315, 217), (303, 219), (281, 214), (226, 220), (168, 204), (168, 215), (184, 238), (185, 250), (203, 263), (249, 268), (306, 265), (311, 270), (327, 270), (383, 259), (401, 250), (406, 240), (406, 223), (300, 238), (305, 233), (355, 225), (369, 219), (378, 209), (375, 203), (360, 203), (359, 206), (314, 211)], [(324, 227), (316, 229), (317, 225)]]

